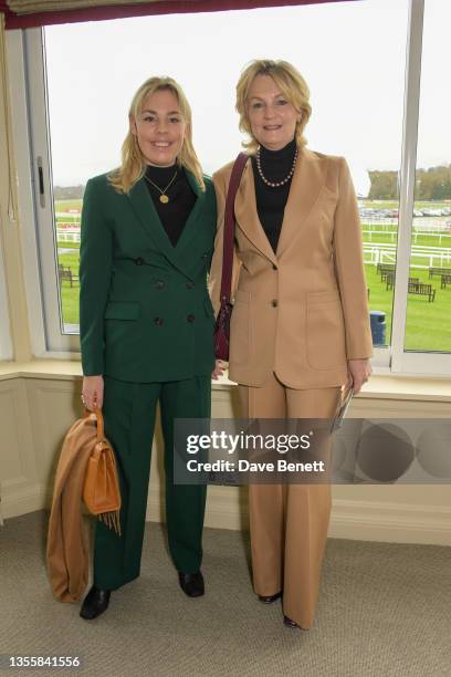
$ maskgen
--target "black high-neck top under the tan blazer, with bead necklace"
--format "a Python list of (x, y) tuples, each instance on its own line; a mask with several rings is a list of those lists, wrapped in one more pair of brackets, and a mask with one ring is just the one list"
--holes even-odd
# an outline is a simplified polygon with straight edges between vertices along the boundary
[[(296, 142), (294, 139), (281, 150), (268, 150), (268, 148), (260, 146), (260, 165), (264, 177), (274, 183), (283, 180), (290, 174), (295, 153)], [(284, 186), (277, 188), (266, 186), (259, 174), (254, 156), (252, 157), (252, 169), (260, 222), (275, 252), (282, 229), (283, 212), (289, 199), (291, 179)]]

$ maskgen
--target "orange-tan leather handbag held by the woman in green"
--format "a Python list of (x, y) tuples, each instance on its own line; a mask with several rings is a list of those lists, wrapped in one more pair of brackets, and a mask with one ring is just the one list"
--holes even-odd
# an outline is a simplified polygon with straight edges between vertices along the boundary
[(105, 438), (101, 409), (86, 410), (85, 416), (95, 417), (97, 436), (86, 466), (83, 500), (92, 514), (120, 535), (120, 490), (114, 450)]

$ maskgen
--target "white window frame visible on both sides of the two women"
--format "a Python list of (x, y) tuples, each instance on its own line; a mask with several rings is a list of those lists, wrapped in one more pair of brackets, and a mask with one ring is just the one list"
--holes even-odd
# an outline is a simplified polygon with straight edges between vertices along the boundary
[[(449, 376), (451, 353), (406, 352), (403, 348), (415, 200), (423, 12), (424, 0), (410, 0), (391, 345), (386, 348), (375, 348), (373, 365), (379, 373)], [(11, 97), (18, 171), (21, 178), (19, 184), (21, 223), (25, 225), (24, 267), (33, 352), (41, 356), (63, 357), (65, 354), (74, 358), (80, 351), (78, 336), (61, 334), (59, 289), (53, 277), (54, 273), (57, 279), (43, 31), (41, 29), (10, 31), (7, 46), (12, 64), (10, 82), (14, 83), (11, 87)], [(38, 157), (41, 158), (45, 186), (43, 205), (36, 190)], [(52, 274), (43, 274), (42, 271), (46, 273), (52, 271)]]

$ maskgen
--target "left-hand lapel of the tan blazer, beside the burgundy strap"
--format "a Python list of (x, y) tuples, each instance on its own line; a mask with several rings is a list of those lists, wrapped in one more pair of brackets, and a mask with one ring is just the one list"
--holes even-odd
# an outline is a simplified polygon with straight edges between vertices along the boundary
[(237, 226), (243, 231), (252, 244), (270, 261), (277, 259), (270, 244), (256, 211), (255, 184), (252, 162), (248, 160), (235, 198)]

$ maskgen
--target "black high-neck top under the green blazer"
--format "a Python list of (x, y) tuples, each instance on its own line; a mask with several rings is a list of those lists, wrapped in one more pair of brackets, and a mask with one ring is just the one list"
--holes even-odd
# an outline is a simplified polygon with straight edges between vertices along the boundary
[[(161, 192), (147, 179), (150, 179), (162, 190), (169, 184), (176, 171), (177, 177), (165, 194), (168, 196), (169, 202), (164, 204), (159, 199)], [(155, 167), (154, 165), (147, 165), (145, 181), (160, 221), (169, 240), (175, 247), (197, 200), (197, 196), (189, 185), (186, 171), (178, 165), (172, 165), (171, 167)]]

